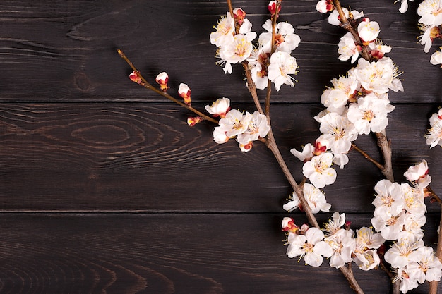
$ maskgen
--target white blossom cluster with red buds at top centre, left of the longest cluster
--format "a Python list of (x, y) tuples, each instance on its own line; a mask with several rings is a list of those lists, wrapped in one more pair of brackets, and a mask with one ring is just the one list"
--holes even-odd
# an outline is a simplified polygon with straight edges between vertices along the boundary
[[(275, 1), (270, 1), (268, 8), (272, 11)], [(244, 18), (246, 13), (241, 8), (235, 8), (234, 17), (227, 12), (218, 22), (215, 32), (210, 34), (210, 42), (219, 47), (218, 64), (224, 64), (225, 73), (232, 73), (232, 64), (246, 61), (251, 71), (251, 78), (258, 89), (265, 89), (268, 80), (280, 90), (281, 85), (294, 87), (294, 78), (297, 73), (297, 61), (291, 56), (292, 50), (298, 47), (301, 39), (294, 33), (294, 27), (289, 23), (277, 23), (275, 38), (272, 43), (272, 20), (266, 20), (263, 28), (266, 32), (258, 37), (258, 44), (253, 48), (252, 41), (256, 32), (251, 32), (251, 23)], [(239, 27), (238, 33), (236, 27)]]

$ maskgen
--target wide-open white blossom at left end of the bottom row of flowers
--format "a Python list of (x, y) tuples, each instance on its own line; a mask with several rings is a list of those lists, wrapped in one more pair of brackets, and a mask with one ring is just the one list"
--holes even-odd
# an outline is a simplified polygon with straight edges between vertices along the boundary
[(330, 257), (333, 253), (328, 243), (324, 242), (324, 234), (318, 228), (309, 228), (305, 235), (289, 233), (287, 255), (290, 258), (304, 257), (304, 262), (311, 267), (319, 267), (324, 257)]

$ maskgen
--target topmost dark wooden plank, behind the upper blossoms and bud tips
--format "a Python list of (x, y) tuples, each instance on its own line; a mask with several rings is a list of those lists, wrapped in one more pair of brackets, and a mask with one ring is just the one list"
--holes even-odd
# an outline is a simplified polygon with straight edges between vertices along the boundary
[[(234, 1), (242, 6), (262, 32), (268, 1)], [(146, 4), (145, 1), (2, 1), (0, 18), (0, 101), (150, 101), (156, 94), (133, 85), (130, 69), (117, 55), (123, 49), (146, 78), (153, 82), (160, 71), (171, 78), (171, 92), (188, 83), (193, 99), (213, 97), (249, 100), (239, 68), (232, 76), (215, 65), (216, 48), (210, 44), (213, 25), (227, 11), (224, 1), (186, 0)], [(348, 62), (338, 61), (337, 44), (344, 32), (329, 25), (315, 10), (316, 1), (287, 1), (281, 21), (296, 27), (301, 44), (294, 51), (299, 63), (296, 89), (283, 87), (275, 101), (317, 102), (330, 80), (345, 75)], [(392, 94), (393, 102), (439, 102), (440, 71), (429, 63), (417, 44), (417, 4), (398, 12), (393, 1), (346, 1), (343, 6), (363, 10), (381, 25), (380, 37), (393, 47), (389, 54), (404, 71), (405, 92)], [(198, 59), (196, 59), (198, 56)], [(330, 71), (333, 68), (333, 71)], [(435, 77), (425, 78), (422, 77)], [(422, 87), (425, 91), (422, 91)]]

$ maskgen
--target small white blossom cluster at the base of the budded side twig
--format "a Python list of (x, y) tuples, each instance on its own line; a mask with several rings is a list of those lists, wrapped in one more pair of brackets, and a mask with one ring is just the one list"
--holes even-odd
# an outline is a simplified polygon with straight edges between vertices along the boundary
[(229, 98), (217, 99), (212, 105), (206, 105), (205, 110), (212, 116), (221, 118), (219, 125), (213, 130), (213, 140), (222, 144), (237, 137), (242, 152), (249, 152), (253, 141), (265, 137), (270, 130), (267, 117), (258, 111), (250, 114), (248, 111), (230, 110)]

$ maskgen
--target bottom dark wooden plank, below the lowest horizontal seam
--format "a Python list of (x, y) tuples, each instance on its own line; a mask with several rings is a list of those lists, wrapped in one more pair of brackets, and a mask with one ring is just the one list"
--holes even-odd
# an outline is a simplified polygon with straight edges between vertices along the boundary
[[(0, 292), (353, 293), (327, 261), (313, 268), (287, 258), (281, 218), (1, 214)], [(355, 227), (367, 220), (348, 218)], [(366, 294), (388, 293), (383, 271), (354, 271)], [(426, 289), (424, 284), (412, 293)]]

